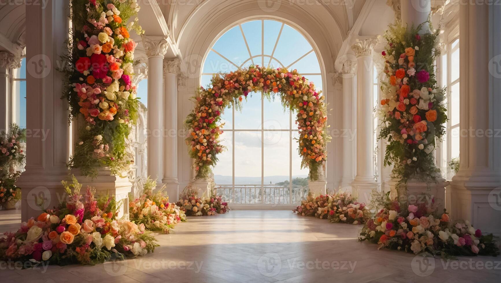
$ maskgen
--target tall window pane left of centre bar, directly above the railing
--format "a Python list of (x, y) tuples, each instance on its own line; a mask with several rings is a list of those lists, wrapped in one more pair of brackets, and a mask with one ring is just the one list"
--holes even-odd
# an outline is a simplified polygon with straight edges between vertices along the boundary
[(235, 132), (235, 184), (261, 184), (261, 132)]

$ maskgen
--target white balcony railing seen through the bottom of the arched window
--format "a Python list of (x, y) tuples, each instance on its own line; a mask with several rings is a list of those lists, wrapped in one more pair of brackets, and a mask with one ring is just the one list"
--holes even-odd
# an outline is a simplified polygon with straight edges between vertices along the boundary
[(238, 204), (300, 203), (308, 195), (308, 186), (298, 185), (216, 185), (215, 190), (225, 201)]

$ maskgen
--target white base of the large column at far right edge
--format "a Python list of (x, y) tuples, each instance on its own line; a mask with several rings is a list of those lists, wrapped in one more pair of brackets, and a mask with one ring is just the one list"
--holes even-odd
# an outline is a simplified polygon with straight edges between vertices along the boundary
[[(469, 220), (482, 234), (501, 235), (501, 184), (499, 177), (480, 180), (456, 175), (447, 188), (447, 210), (453, 220)], [(494, 220), (494, 221), (493, 221)]]

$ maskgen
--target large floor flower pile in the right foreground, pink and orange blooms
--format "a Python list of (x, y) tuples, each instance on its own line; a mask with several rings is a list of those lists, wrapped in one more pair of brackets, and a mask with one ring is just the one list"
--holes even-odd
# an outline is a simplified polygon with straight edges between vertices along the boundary
[(380, 207), (362, 228), (359, 240), (377, 243), (378, 248), (429, 252), (433, 255), (499, 254), (492, 234), (484, 235), (468, 221), (453, 222), (447, 213), (437, 213), (433, 203), (401, 207), (389, 193), (373, 192), (372, 203)]

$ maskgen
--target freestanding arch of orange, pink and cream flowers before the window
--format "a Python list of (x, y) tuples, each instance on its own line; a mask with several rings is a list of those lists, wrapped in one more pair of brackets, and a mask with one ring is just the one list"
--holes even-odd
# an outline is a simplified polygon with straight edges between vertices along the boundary
[(185, 121), (189, 129), (186, 143), (189, 155), (195, 159), (196, 178), (207, 178), (217, 163), (217, 154), (225, 147), (219, 144), (223, 124), (221, 115), (232, 104), (241, 108), (242, 97), (263, 91), (270, 99), (278, 93), (284, 105), (297, 112), (296, 123), (300, 130), (299, 154), (301, 167), (310, 169), (310, 180), (319, 178), (320, 169), (327, 159), (327, 108), (324, 96), (296, 70), (270, 69), (250, 66), (227, 74), (212, 77), (207, 89), (201, 88), (195, 97), (195, 107)]

